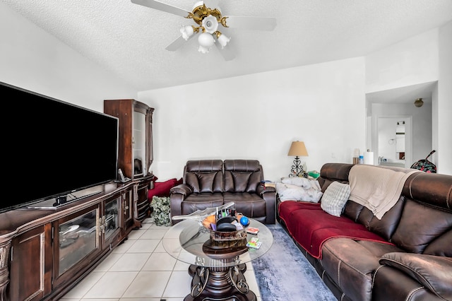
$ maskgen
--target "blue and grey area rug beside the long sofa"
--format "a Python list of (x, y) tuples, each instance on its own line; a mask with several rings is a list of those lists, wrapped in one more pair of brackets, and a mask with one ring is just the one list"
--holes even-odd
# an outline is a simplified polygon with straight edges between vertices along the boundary
[(251, 261), (262, 301), (335, 301), (315, 268), (278, 223), (267, 225), (273, 245)]

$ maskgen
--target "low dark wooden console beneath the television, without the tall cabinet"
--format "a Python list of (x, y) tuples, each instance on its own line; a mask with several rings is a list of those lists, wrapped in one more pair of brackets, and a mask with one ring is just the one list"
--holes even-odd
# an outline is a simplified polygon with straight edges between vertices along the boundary
[(92, 187), (100, 192), (56, 209), (1, 213), (0, 300), (62, 297), (141, 226), (137, 206), (153, 179)]

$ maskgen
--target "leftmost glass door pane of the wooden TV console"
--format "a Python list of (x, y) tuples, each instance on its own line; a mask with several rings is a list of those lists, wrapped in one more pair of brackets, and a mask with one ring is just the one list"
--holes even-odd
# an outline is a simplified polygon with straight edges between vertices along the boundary
[(99, 246), (97, 236), (98, 207), (58, 226), (59, 270), (63, 274), (69, 268), (85, 259)]

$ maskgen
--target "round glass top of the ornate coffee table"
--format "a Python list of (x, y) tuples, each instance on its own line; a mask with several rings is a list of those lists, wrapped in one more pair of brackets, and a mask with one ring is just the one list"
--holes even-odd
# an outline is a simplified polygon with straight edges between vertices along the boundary
[[(236, 266), (266, 254), (273, 244), (273, 235), (263, 223), (249, 219), (247, 227), (258, 228), (255, 234), (247, 233), (246, 239), (227, 242), (210, 240), (210, 230), (198, 220), (182, 220), (173, 225), (162, 239), (163, 248), (175, 259), (197, 266)], [(258, 237), (261, 247), (246, 247), (246, 242)]]

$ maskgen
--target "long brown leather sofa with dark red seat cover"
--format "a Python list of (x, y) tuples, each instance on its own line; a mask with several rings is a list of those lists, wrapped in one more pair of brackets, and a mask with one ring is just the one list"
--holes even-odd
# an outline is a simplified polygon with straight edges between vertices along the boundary
[[(323, 165), (322, 191), (348, 183), (352, 166)], [(277, 219), (338, 300), (452, 300), (451, 175), (410, 175), (381, 220), (350, 199), (340, 217), (320, 203), (278, 200)]]

